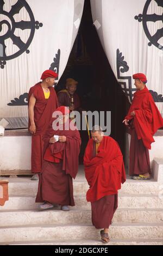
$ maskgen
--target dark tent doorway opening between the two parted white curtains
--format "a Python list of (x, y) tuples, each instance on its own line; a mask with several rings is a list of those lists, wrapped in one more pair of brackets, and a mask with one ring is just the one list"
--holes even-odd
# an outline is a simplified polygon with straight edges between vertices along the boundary
[[(90, 0), (86, 0), (78, 35), (74, 42), (64, 74), (60, 78), (57, 92), (64, 88), (66, 78), (78, 81), (77, 93), (86, 111), (111, 111), (111, 137), (124, 155), (125, 127), (122, 120), (128, 108), (128, 99), (118, 84), (108, 59), (105, 56), (95, 26), (93, 26)], [(82, 152), (88, 136), (82, 137)]]

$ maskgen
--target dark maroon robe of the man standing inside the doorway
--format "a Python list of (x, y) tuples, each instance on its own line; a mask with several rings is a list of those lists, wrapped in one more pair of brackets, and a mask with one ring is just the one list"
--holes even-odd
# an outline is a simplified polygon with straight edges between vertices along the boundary
[[(66, 106), (70, 107), (71, 105), (71, 96), (67, 92), (67, 90), (61, 90), (57, 94), (59, 106)], [(77, 110), (80, 107), (80, 99), (77, 93), (73, 94), (73, 101), (74, 101), (74, 110)]]

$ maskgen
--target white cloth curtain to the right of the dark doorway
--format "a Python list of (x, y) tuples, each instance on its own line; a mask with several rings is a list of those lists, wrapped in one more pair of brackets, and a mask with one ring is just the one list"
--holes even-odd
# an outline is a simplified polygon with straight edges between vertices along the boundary
[(129, 101), (135, 92), (132, 75), (144, 73), (163, 115), (163, 0), (91, 0), (91, 10), (111, 68)]

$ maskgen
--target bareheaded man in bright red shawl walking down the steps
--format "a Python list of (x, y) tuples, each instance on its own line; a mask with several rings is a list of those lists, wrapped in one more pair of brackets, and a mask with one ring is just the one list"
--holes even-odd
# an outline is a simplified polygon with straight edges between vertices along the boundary
[(109, 225), (118, 206), (118, 190), (126, 181), (121, 150), (114, 139), (104, 136), (95, 125), (85, 155), (85, 177), (90, 186), (86, 199), (91, 202), (92, 224), (101, 230), (102, 242), (109, 242)]

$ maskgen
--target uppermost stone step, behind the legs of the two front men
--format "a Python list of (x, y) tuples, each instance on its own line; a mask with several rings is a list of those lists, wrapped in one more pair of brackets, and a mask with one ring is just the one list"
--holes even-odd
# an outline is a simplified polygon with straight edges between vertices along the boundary
[[(6, 179), (6, 178), (5, 178)], [(37, 193), (38, 181), (32, 181), (26, 178), (8, 178), (9, 180), (9, 196), (35, 196)], [(73, 181), (74, 194), (85, 195), (89, 189), (84, 177), (84, 173), (78, 174)], [(122, 185), (120, 193), (122, 194), (158, 194), (162, 187), (158, 182), (153, 180), (135, 181), (127, 179)]]

